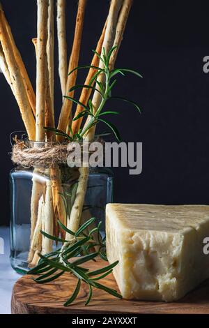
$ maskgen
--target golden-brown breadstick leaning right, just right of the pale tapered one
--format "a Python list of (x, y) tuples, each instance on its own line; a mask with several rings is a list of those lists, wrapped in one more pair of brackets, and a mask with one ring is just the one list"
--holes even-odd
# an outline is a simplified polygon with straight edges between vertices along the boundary
[[(70, 56), (68, 73), (70, 73), (71, 70), (73, 70), (78, 66), (79, 54), (80, 54), (80, 48), (82, 42), (82, 31), (84, 26), (85, 9), (86, 9), (86, 0), (79, 0), (76, 26), (75, 26), (75, 36), (72, 45), (72, 53)], [(70, 93), (68, 91), (70, 90), (71, 87), (75, 85), (76, 78), (77, 78), (77, 70), (75, 70), (72, 74), (68, 75), (66, 89), (65, 89), (65, 94), (67, 96), (70, 97), (74, 96), (74, 91)], [(63, 101), (63, 106), (59, 117), (59, 125), (58, 125), (59, 130), (62, 130), (64, 132), (67, 131), (68, 124), (70, 123), (71, 110), (72, 110), (72, 101), (65, 98)], [(57, 136), (57, 140), (61, 141), (63, 140), (63, 137)]]

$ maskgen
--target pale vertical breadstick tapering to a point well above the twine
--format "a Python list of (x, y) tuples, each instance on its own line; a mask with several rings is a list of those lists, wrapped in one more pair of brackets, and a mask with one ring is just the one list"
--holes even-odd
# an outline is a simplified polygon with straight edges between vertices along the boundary
[(57, 37), (59, 50), (59, 78), (61, 82), (62, 95), (65, 95), (68, 76), (66, 22), (65, 22), (65, 0), (57, 0)]

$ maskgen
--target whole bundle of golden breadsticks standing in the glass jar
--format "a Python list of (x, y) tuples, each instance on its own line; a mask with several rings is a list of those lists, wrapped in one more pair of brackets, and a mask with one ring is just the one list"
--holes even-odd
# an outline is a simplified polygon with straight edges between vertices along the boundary
[[(95, 0), (93, 0), (95, 1)], [(102, 3), (103, 1), (101, 1)], [(37, 0), (38, 20), (37, 36), (33, 38), (36, 49), (36, 94), (33, 91), (29, 75), (26, 71), (20, 52), (17, 50), (13, 34), (11, 32), (6, 16), (0, 7), (0, 68), (6, 77), (8, 84), (17, 100), (20, 108), (22, 120), (26, 128), (29, 140), (35, 140), (34, 147), (39, 147), (40, 142), (63, 142), (63, 137), (55, 135), (53, 131), (44, 127), (55, 128), (54, 119), (54, 9), (56, 5), (56, 23), (59, 45), (59, 77), (63, 96), (74, 96), (74, 91), (69, 92), (77, 80), (77, 70), (68, 75), (79, 64), (80, 48), (82, 43), (82, 32), (84, 27), (84, 14), (87, 0), (79, 0), (77, 17), (75, 22), (75, 36), (72, 44), (69, 65), (67, 60), (67, 42), (65, 33), (65, 0)], [(114, 68), (118, 49), (123, 39), (123, 32), (127, 22), (127, 17), (132, 6), (132, 0), (111, 0), (109, 13), (102, 34), (98, 40), (96, 51), (101, 54), (104, 48), (109, 52), (111, 47), (117, 45), (111, 57), (111, 68)], [(95, 14), (96, 15), (96, 14)], [(103, 67), (102, 61), (94, 54), (92, 66)], [(89, 84), (95, 75), (95, 69), (90, 68), (84, 84)], [(103, 82), (102, 73), (98, 75), (98, 81)], [(92, 89), (82, 89), (79, 101), (87, 104), (91, 96)], [(96, 112), (100, 105), (100, 94), (95, 91), (93, 94), (93, 110)], [(77, 133), (82, 127), (88, 124), (82, 122), (82, 117), (72, 121), (82, 112), (82, 107), (77, 105), (72, 113), (72, 101), (63, 98), (61, 113), (59, 116), (58, 129), (65, 133)], [(68, 131), (71, 126), (71, 131)], [(88, 140), (93, 140), (95, 126), (86, 134)], [(82, 217), (84, 197), (88, 182), (88, 167), (79, 168), (79, 179), (75, 202), (70, 215), (66, 217), (65, 207), (61, 199), (62, 185), (59, 167), (49, 167), (47, 174), (49, 179), (45, 184), (40, 183), (39, 169), (33, 169), (33, 188), (31, 194), (31, 247), (29, 251), (29, 266), (37, 264), (39, 253), (49, 253), (52, 251), (52, 241), (43, 237), (40, 230), (48, 234), (54, 234), (65, 240), (71, 237), (59, 230), (57, 220), (76, 231)]]

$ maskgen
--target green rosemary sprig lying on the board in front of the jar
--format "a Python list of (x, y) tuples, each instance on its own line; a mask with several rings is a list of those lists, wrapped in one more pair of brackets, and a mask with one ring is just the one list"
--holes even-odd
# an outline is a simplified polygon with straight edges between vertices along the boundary
[[(90, 228), (94, 222), (95, 218), (91, 218), (90, 220), (86, 221), (79, 228), (79, 230), (77, 230), (77, 232), (68, 230), (68, 228), (59, 222), (61, 228), (72, 235), (72, 239), (70, 241), (65, 241), (61, 238), (51, 236), (41, 231), (41, 233), (46, 238), (61, 242), (63, 246), (57, 251), (47, 255), (40, 254), (38, 265), (31, 269), (28, 274), (39, 275), (38, 278), (33, 278), (36, 283), (49, 283), (62, 276), (64, 273), (72, 274), (75, 276), (75, 278), (77, 278), (77, 285), (70, 298), (65, 302), (64, 306), (69, 306), (73, 301), (75, 301), (77, 295), (79, 294), (82, 281), (88, 285), (89, 289), (88, 299), (85, 304), (86, 306), (89, 304), (91, 298), (93, 297), (93, 288), (104, 290), (104, 292), (107, 292), (114, 297), (122, 298), (116, 290), (98, 283), (100, 279), (111, 274), (112, 269), (116, 267), (118, 261), (95, 271), (89, 271), (89, 269), (82, 267), (82, 264), (91, 260), (95, 260), (95, 258), (98, 256), (107, 261), (105, 239), (102, 239), (100, 234), (101, 223), (99, 223), (96, 228), (89, 229), (90, 231), (88, 234), (86, 234), (86, 228)], [(93, 234), (95, 234), (95, 232), (98, 233), (97, 241), (93, 239)], [(98, 246), (98, 251), (92, 253), (92, 249), (95, 246)], [(77, 259), (75, 259), (75, 256), (78, 255), (84, 256), (79, 256)]]

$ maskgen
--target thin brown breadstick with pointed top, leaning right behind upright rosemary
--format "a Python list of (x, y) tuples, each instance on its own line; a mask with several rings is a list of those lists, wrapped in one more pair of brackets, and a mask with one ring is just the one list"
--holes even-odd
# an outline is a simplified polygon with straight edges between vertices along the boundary
[[(100, 36), (100, 40), (98, 41), (98, 45), (96, 47), (96, 52), (98, 52), (98, 54), (101, 54), (101, 52), (102, 52), (102, 44), (104, 41), (104, 33), (106, 31), (106, 27), (107, 27), (107, 22), (105, 22), (105, 24), (104, 24), (104, 28), (102, 30), (102, 35)], [(93, 59), (91, 61), (91, 66), (98, 66), (99, 63), (100, 63), (99, 57), (96, 54), (94, 54)], [(85, 85), (88, 85), (91, 82), (91, 79), (92, 79), (93, 75), (95, 75), (95, 73), (97, 73), (97, 69), (95, 69), (95, 68), (89, 69), (88, 75), (86, 77), (86, 81), (84, 82)], [(82, 94), (79, 98), (79, 102), (84, 103), (84, 105), (87, 105), (88, 99), (91, 96), (91, 91), (92, 91), (92, 89), (88, 89), (88, 88), (82, 89)], [(74, 118), (77, 117), (77, 115), (80, 112), (82, 112), (82, 110), (84, 110), (84, 107), (82, 107), (81, 105), (77, 105)], [(79, 128), (82, 125), (82, 120), (83, 120), (83, 117), (77, 119), (76, 121), (72, 121), (71, 128), (72, 128), (73, 134), (78, 133)]]

